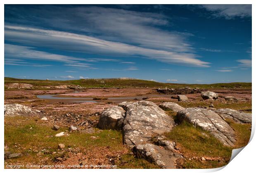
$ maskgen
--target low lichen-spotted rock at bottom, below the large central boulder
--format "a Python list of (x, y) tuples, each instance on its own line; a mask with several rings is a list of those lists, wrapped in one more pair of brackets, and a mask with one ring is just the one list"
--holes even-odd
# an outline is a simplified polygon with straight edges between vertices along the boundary
[(149, 143), (135, 145), (132, 151), (136, 157), (154, 162), (161, 168), (176, 168), (176, 159), (182, 158), (182, 156), (174, 150), (166, 150), (165, 148)]

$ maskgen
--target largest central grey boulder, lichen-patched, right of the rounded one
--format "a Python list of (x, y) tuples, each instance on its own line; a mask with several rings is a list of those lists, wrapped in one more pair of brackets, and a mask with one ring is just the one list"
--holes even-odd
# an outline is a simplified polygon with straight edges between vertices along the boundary
[(154, 135), (171, 131), (175, 122), (164, 110), (149, 101), (139, 101), (126, 106), (123, 142), (130, 147), (151, 140)]

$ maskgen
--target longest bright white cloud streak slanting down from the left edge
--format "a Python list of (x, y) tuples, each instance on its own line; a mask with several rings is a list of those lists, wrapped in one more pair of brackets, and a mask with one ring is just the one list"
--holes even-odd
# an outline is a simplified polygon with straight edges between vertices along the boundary
[[(164, 63), (178, 63), (181, 65), (209, 67), (209, 62), (197, 59), (194, 53), (157, 50), (151, 48), (138, 47), (121, 42), (113, 42), (98, 39), (95, 37), (67, 33), (55, 30), (43, 30), (38, 28), (23, 26), (5, 26), (5, 40), (18, 42), (20, 44), (29, 44), (40, 47), (49, 47), (61, 49), (64, 51), (91, 52), (108, 55), (126, 55), (126, 56), (142, 56), (144, 58), (155, 59)], [(10, 46), (11, 47), (11, 46)], [(30, 48), (31, 52), (36, 53)], [(42, 54), (43, 52), (38, 52)], [(36, 56), (38, 57), (38, 55)], [(45, 54), (45, 58), (59, 61), (86, 61), (83, 58), (55, 56)], [(83, 59), (83, 60), (82, 60)]]

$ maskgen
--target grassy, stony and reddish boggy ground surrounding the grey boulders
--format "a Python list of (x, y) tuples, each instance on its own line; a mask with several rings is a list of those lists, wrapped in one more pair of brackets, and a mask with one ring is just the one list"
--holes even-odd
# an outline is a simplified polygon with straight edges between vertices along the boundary
[[(67, 94), (73, 96), (76, 90), (26, 90), (8, 89), (5, 91), (5, 104), (19, 103), (45, 112), (47, 121), (41, 117), (6, 117), (5, 118), (5, 151), (21, 152), (17, 158), (5, 159), (5, 168), (8, 164), (36, 164), (36, 165), (116, 165), (117, 168), (159, 168), (144, 159), (137, 159), (130, 149), (123, 145), (122, 132), (97, 129), (97, 122), (101, 112), (117, 103), (113, 101), (98, 101), (96, 103), (54, 102), (36, 98), (38, 94)], [(251, 90), (248, 89), (212, 89), (218, 92), (216, 101), (203, 101), (200, 94), (186, 94), (187, 102), (178, 102), (170, 96), (155, 96), (152, 88), (142, 89), (86, 89), (84, 96), (134, 96), (149, 97), (146, 100), (156, 104), (175, 102), (189, 108), (195, 106), (215, 108), (231, 108), (243, 112), (251, 112)], [(80, 93), (78, 93), (80, 94)], [(154, 96), (152, 96), (154, 94)], [(237, 102), (225, 101), (225, 96), (239, 98)], [(133, 101), (126, 99), (124, 101)], [(140, 99), (137, 99), (140, 100)], [(176, 113), (166, 111), (176, 120)], [(83, 123), (84, 122), (84, 123)], [(177, 122), (177, 120), (176, 120)], [(237, 124), (228, 121), (236, 131), (237, 143), (235, 148), (247, 145), (250, 134), (250, 124)], [(59, 125), (58, 131), (52, 130), (53, 125)], [(94, 133), (69, 133), (69, 136), (55, 137), (55, 134), (68, 131), (70, 125), (81, 129), (93, 128)], [(96, 138), (92, 138), (95, 136)], [(177, 162), (177, 168), (216, 168), (228, 164), (232, 148), (224, 147), (208, 132), (195, 128), (190, 124), (182, 123), (173, 128), (165, 136), (177, 144), (178, 151), (184, 159)], [(65, 145), (64, 150), (58, 149), (58, 144)], [(62, 160), (57, 160), (61, 157)], [(89, 168), (92, 168), (89, 166)]]

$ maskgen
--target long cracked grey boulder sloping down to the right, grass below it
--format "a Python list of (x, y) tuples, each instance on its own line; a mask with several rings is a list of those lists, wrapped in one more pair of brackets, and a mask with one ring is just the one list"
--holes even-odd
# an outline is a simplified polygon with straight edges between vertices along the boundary
[(209, 131), (224, 145), (234, 146), (235, 131), (218, 114), (203, 108), (187, 108), (177, 113), (180, 122), (187, 121)]

